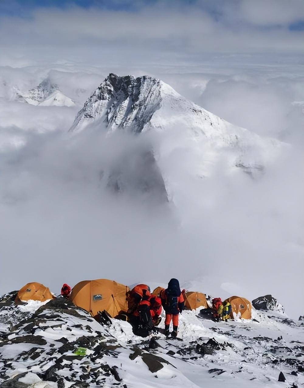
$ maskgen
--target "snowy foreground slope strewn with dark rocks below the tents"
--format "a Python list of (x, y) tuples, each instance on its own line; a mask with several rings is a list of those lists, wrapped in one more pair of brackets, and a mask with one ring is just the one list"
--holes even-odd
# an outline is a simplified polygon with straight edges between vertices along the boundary
[[(184, 311), (179, 338), (172, 339), (161, 333), (136, 337), (128, 322), (115, 319), (101, 325), (61, 297), (6, 304), (0, 308), (1, 387), (304, 384), (304, 324), (277, 312), (253, 309), (252, 320), (216, 323), (208, 310)], [(85, 356), (74, 354), (79, 347)], [(285, 383), (278, 381), (280, 372)]]

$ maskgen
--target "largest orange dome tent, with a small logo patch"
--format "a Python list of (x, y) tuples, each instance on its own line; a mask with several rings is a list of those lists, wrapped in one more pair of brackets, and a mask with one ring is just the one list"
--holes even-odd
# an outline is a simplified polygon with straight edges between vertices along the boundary
[(74, 286), (70, 300), (74, 305), (87, 310), (93, 317), (106, 310), (112, 318), (126, 312), (128, 286), (108, 279), (84, 280)]

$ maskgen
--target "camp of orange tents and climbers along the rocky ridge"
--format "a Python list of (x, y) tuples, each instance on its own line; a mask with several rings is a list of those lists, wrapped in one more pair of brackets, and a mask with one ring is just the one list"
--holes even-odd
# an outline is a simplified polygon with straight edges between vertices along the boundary
[[(196, 310), (201, 307), (210, 312), (215, 321), (239, 317), (251, 319), (251, 303), (239, 296), (231, 296), (223, 301), (213, 298), (212, 307), (206, 295), (194, 291), (180, 289), (179, 281), (171, 279), (166, 289), (157, 287), (152, 293), (148, 285), (137, 284), (130, 289), (128, 286), (108, 279), (81, 281), (73, 288), (64, 284), (60, 297), (69, 299), (77, 307), (89, 312), (98, 322), (103, 323), (109, 317), (126, 320), (132, 326), (135, 335), (146, 337), (154, 332), (170, 335), (172, 321), (172, 337), (177, 337), (179, 314), (185, 310)], [(43, 284), (31, 282), (23, 286), (15, 298), (15, 303), (22, 301), (48, 301), (55, 296)], [(165, 312), (165, 329), (159, 326), (161, 312)], [(204, 314), (205, 315), (205, 314)]]

